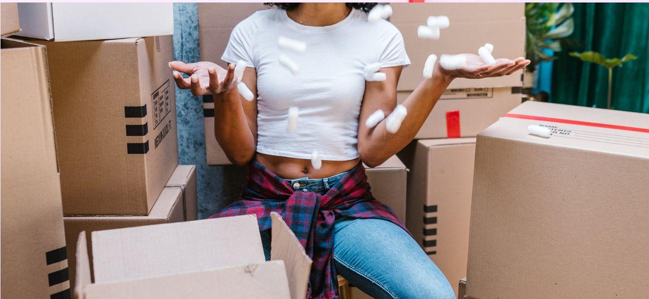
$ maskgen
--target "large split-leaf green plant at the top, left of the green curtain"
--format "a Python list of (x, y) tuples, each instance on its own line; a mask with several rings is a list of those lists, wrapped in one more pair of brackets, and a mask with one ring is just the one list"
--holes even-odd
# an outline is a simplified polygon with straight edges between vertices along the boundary
[(545, 50), (561, 52), (561, 43), (574, 30), (572, 3), (564, 3), (559, 8), (559, 3), (526, 3), (526, 58), (532, 61), (529, 69), (542, 61), (555, 60), (556, 57), (546, 54)]

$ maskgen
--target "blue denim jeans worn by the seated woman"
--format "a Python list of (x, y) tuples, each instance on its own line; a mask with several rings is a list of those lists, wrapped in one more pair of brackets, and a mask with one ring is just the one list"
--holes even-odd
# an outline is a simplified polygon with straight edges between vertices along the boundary
[[(324, 179), (288, 179), (294, 189), (326, 193), (347, 173)], [(270, 234), (262, 232), (270, 260)], [(334, 263), (338, 274), (373, 298), (455, 299), (448, 280), (408, 232), (381, 219), (336, 219)]]

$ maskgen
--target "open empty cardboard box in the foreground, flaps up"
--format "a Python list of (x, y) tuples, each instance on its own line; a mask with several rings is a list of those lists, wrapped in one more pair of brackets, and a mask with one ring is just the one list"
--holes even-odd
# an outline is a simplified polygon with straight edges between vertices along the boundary
[[(312, 261), (278, 214), (271, 214), (265, 261), (254, 215), (92, 233), (77, 248), (78, 298), (304, 298)], [(116, 263), (115, 261), (121, 261)], [(190, 286), (190, 287), (188, 287)]]

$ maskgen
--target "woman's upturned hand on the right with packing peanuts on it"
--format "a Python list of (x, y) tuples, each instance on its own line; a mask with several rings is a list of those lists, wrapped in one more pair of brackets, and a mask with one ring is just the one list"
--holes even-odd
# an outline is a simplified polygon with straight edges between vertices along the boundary
[(480, 79), (480, 78), (489, 78), (489, 77), (500, 77), (513, 74), (513, 72), (522, 69), (526, 65), (530, 64), (530, 60), (526, 60), (523, 57), (516, 58), (515, 60), (509, 60), (506, 58), (496, 59), (495, 65), (487, 65), (482, 61), (482, 58), (476, 54), (464, 54), (467, 58), (467, 64), (461, 69), (455, 69), (449, 71), (443, 69), (439, 65), (435, 65), (435, 69), (439, 70), (441, 74), (450, 78), (469, 78), (469, 79)]

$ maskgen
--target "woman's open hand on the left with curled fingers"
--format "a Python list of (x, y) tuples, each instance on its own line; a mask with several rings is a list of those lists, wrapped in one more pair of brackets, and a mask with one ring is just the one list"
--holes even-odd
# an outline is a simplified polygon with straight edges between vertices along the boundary
[[(171, 61), (169, 67), (174, 69), (173, 78), (178, 88), (190, 89), (191, 94), (195, 96), (225, 93), (237, 85), (233, 64), (228, 65), (227, 69), (223, 69), (209, 61), (195, 63)], [(182, 78), (180, 72), (188, 74), (190, 78)]]

